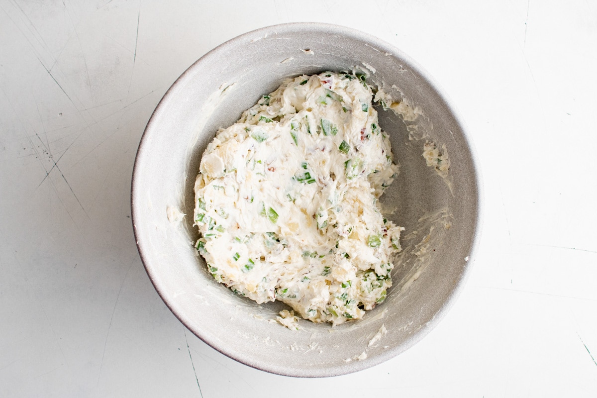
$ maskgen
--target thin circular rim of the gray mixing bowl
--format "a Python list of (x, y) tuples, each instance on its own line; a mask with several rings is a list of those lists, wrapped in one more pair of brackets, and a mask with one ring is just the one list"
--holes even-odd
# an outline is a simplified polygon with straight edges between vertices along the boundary
[[(413, 334), (410, 338), (404, 341), (404, 343), (389, 348), (388, 350), (384, 351), (382, 354), (377, 355), (376, 357), (371, 357), (366, 362), (361, 361), (353, 361), (351, 363), (346, 363), (344, 366), (334, 366), (333, 368), (325, 368), (324, 371), (321, 369), (303, 369), (301, 371), (297, 371), (297, 369), (287, 369), (281, 368), (277, 366), (273, 366), (267, 363), (255, 362), (251, 361), (250, 358), (244, 357), (238, 354), (238, 351), (227, 350), (225, 347), (221, 347), (215, 341), (211, 341), (208, 338), (205, 338), (201, 335), (199, 331), (194, 331), (186, 322), (186, 317), (184, 314), (179, 313), (176, 307), (170, 303), (170, 300), (167, 299), (167, 295), (163, 288), (159, 285), (156, 281), (156, 275), (154, 274), (151, 267), (148, 266), (149, 261), (147, 260), (147, 256), (143, 251), (139, 243), (140, 232), (137, 230), (136, 220), (138, 219), (136, 216), (136, 198), (137, 198), (137, 187), (136, 180), (139, 178), (140, 174), (140, 166), (139, 163), (141, 162), (141, 158), (143, 158), (144, 154), (144, 147), (146, 146), (147, 137), (149, 136), (150, 132), (153, 130), (153, 126), (156, 123), (156, 119), (160, 115), (162, 108), (166, 106), (170, 97), (172, 97), (175, 92), (179, 89), (179, 87), (184, 87), (185, 83), (192, 78), (193, 71), (201, 66), (202, 63), (206, 63), (210, 58), (215, 57), (218, 54), (226, 53), (229, 47), (234, 47), (236, 44), (241, 42), (247, 41), (247, 39), (253, 38), (253, 40), (264, 38), (269, 35), (269, 33), (284, 33), (284, 32), (325, 32), (328, 34), (336, 34), (341, 36), (347, 36), (352, 39), (356, 39), (358, 41), (362, 41), (367, 45), (373, 45), (378, 50), (385, 50), (387, 53), (392, 55), (398, 55), (399, 58), (402, 58), (408, 63), (408, 66), (411, 69), (417, 71), (417, 73), (426, 81), (430, 87), (433, 87), (433, 90), (436, 91), (438, 94), (439, 100), (441, 100), (445, 106), (447, 107), (448, 111), (453, 116), (454, 121), (460, 128), (462, 132), (463, 143), (468, 149), (468, 153), (470, 155), (470, 163), (472, 165), (472, 174), (474, 175), (473, 186), (476, 188), (476, 197), (475, 199), (475, 208), (474, 214), (476, 216), (476, 220), (474, 223), (474, 233), (472, 235), (472, 241), (470, 244), (470, 249), (467, 254), (467, 263), (466, 266), (463, 267), (463, 271), (460, 273), (460, 277), (458, 278), (457, 282), (454, 284), (454, 288), (448, 295), (448, 298), (438, 310), (435, 311), (435, 315), (432, 319), (427, 322), (425, 328), (419, 329), (417, 332)], [(477, 151), (474, 147), (474, 144), (471, 140), (470, 133), (468, 132), (468, 128), (466, 124), (464, 124), (463, 118), (461, 117), (460, 112), (454, 106), (453, 101), (451, 101), (445, 92), (445, 90), (435, 81), (435, 79), (429, 75), (429, 73), (421, 67), (420, 64), (417, 63), (413, 58), (409, 55), (405, 54), (402, 50), (395, 47), (395, 45), (390, 44), (389, 42), (378, 38), (377, 36), (371, 35), (370, 33), (362, 32), (361, 30), (354, 29), (352, 27), (341, 26), (338, 24), (330, 24), (330, 23), (321, 23), (321, 22), (291, 22), (291, 23), (282, 23), (282, 24), (273, 24), (270, 26), (260, 27), (259, 29), (250, 30), (249, 32), (242, 33), (241, 35), (235, 36), (232, 39), (229, 39), (223, 42), (220, 45), (209, 50), (207, 53), (202, 55), (198, 58), (198, 60), (194, 61), (183, 73), (171, 84), (165, 94), (162, 96), (161, 100), (159, 100), (158, 104), (156, 105), (155, 109), (152, 112), (149, 120), (147, 121), (147, 125), (144, 128), (143, 134), (140, 138), (139, 147), (137, 149), (137, 153), (135, 156), (135, 161), (133, 165), (133, 175), (131, 180), (131, 222), (133, 224), (133, 233), (135, 236), (135, 242), (137, 245), (137, 250), (139, 251), (141, 263), (143, 263), (143, 267), (146, 270), (147, 276), (149, 276), (150, 281), (152, 282), (153, 287), (155, 288), (156, 292), (158, 292), (159, 297), (164, 301), (164, 304), (170, 309), (170, 311), (177, 317), (177, 319), (184, 325), (186, 329), (192, 332), (196, 337), (202, 340), (205, 344), (209, 345), (214, 350), (224, 354), (225, 356), (236, 360), (237, 362), (243, 363), (244, 365), (250, 366), (251, 368), (259, 369), (264, 372), (269, 372), (272, 374), (287, 376), (287, 377), (300, 377), (300, 378), (323, 378), (323, 377), (334, 377), (339, 375), (350, 374), (356, 371), (362, 371), (367, 368), (371, 368), (373, 366), (379, 365), (380, 363), (386, 362), (393, 357), (398, 356), (398, 354), (403, 353), (404, 351), (408, 350), (408, 348), (413, 347), (413, 345), (420, 342), (433, 328), (435, 328), (438, 323), (444, 319), (447, 315), (448, 311), (454, 306), (457, 301), (457, 298), (460, 297), (464, 286), (466, 285), (467, 280), (470, 277), (470, 270), (472, 265), (475, 263), (476, 253), (478, 251), (479, 240), (481, 240), (481, 232), (482, 232), (482, 221), (483, 221), (483, 213), (484, 213), (484, 186), (483, 186), (483, 179), (481, 177), (481, 168), (480, 163), (477, 155)]]

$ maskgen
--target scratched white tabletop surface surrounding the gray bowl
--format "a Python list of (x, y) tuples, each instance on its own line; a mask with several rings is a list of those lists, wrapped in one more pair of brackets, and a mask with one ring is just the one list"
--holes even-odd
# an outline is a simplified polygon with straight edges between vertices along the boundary
[[(141, 264), (130, 180), (190, 64), (270, 24), (376, 35), (435, 77), (485, 184), (466, 288), (413, 348), (303, 380), (187, 331)], [(0, 396), (597, 396), (597, 2), (0, 0)]]

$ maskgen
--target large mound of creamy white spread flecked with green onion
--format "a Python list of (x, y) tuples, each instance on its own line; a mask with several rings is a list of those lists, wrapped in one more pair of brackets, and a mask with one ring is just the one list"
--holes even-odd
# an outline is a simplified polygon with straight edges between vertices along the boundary
[(384, 300), (404, 229), (377, 206), (398, 165), (372, 102), (362, 76), (303, 75), (220, 129), (194, 218), (218, 282), (334, 325)]

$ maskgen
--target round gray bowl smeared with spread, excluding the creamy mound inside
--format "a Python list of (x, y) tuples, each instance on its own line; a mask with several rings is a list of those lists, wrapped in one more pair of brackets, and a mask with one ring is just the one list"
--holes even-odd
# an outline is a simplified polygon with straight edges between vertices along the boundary
[[(336, 327), (275, 322), (285, 308), (233, 294), (207, 272), (193, 242), (193, 183), (216, 130), (235, 122), (281, 80), (301, 73), (356, 70), (421, 111), (404, 121), (379, 109), (390, 134), (398, 179), (382, 197), (387, 217), (404, 226), (387, 300), (364, 319)], [(423, 145), (445, 145), (447, 177), (427, 166)], [(346, 27), (290, 23), (238, 36), (196, 61), (164, 95), (141, 138), (132, 211), (147, 274), (167, 306), (205, 343), (263, 371), (327, 377), (359, 371), (411, 347), (453, 304), (479, 235), (480, 183), (463, 124), (445, 95), (407, 55)], [(181, 222), (167, 208), (187, 214)]]

